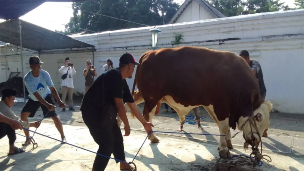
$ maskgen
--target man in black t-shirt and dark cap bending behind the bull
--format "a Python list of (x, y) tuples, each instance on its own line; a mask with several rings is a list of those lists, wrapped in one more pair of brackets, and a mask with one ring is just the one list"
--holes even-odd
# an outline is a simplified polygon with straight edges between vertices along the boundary
[[(90, 130), (94, 141), (99, 145), (98, 153), (126, 161), (123, 136), (117, 124), (117, 113), (125, 125), (125, 134), (130, 134), (130, 125), (126, 116), (124, 102), (143, 124), (147, 133), (153, 124), (147, 122), (134, 103), (126, 78), (132, 78), (135, 61), (132, 54), (123, 54), (119, 59), (119, 68), (113, 68), (98, 76), (85, 93), (80, 106), (82, 118)], [(109, 158), (96, 155), (92, 171), (103, 171)], [(118, 161), (116, 161), (118, 163)], [(120, 169), (131, 170), (132, 166), (120, 162)]]

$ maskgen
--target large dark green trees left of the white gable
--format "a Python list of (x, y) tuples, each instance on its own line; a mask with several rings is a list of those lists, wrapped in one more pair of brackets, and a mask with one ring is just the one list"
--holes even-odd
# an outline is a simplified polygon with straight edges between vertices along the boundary
[(73, 2), (72, 8), (73, 17), (65, 25), (64, 33), (83, 31), (81, 29), (100, 32), (143, 26), (136, 23), (162, 25), (163, 21), (170, 21), (179, 5), (173, 0), (91, 0)]

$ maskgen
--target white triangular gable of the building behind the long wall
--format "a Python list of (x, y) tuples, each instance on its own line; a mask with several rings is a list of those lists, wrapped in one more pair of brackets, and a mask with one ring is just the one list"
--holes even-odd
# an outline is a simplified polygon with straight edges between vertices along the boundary
[(178, 17), (175, 23), (183, 23), (189, 21), (197, 21), (204, 19), (214, 19), (211, 14), (204, 9), (199, 2), (192, 1), (185, 9), (185, 11)]

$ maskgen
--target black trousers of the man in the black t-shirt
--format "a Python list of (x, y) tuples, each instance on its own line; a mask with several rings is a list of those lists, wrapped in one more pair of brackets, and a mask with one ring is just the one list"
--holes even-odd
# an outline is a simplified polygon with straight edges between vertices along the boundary
[[(124, 161), (126, 159), (124, 146), (123, 146), (123, 135), (118, 127), (116, 116), (117, 110), (115, 106), (109, 107), (105, 114), (100, 112), (83, 112), (82, 117), (85, 124), (90, 130), (94, 141), (99, 145), (97, 153), (111, 156), (114, 155), (115, 159)], [(100, 116), (97, 119), (93, 116)], [(94, 118), (94, 119), (93, 119)], [(101, 155), (96, 155), (93, 170), (104, 171), (108, 165), (109, 158)], [(116, 161), (118, 163), (119, 161)]]

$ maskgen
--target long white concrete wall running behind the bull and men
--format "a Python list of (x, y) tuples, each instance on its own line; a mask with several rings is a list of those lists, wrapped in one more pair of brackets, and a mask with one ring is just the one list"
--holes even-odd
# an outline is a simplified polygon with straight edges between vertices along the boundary
[[(150, 28), (107, 31), (74, 38), (96, 46), (95, 66), (102, 67), (107, 58), (112, 58), (114, 66), (118, 67), (119, 57), (123, 53), (132, 53), (138, 60), (143, 52), (151, 50), (148, 46), (151, 39), (151, 33), (148, 31)], [(183, 44), (175, 46), (201, 46), (235, 53), (243, 49), (248, 50), (251, 58), (261, 63), (267, 89), (266, 100), (271, 100), (274, 108), (280, 112), (304, 113), (304, 77), (298, 74), (304, 70), (301, 67), (304, 62), (304, 10), (208, 19), (157, 28), (162, 30), (159, 33), (158, 48), (172, 47), (170, 42), (174, 39), (173, 33), (182, 33)], [(0, 48), (0, 52), (0, 65), (3, 65), (6, 59), (9, 66), (14, 70), (19, 68), (20, 71), (19, 55), (4, 58), (4, 55), (11, 52), (7, 47)], [(30, 55), (32, 54), (24, 55), (25, 66), (28, 66)], [(77, 72), (74, 76), (75, 91), (84, 92), (83, 69), (85, 61), (92, 59), (92, 52), (42, 54), (40, 57), (45, 62), (43, 69), (50, 73), (54, 83), (57, 82), (57, 89), (61, 85), (58, 60), (70, 57)], [(102, 68), (96, 69), (100, 75)], [(29, 68), (26, 68), (26, 71), (29, 71)], [(5, 70), (1, 70), (0, 82), (5, 81), (2, 74), (5, 74)], [(133, 78), (134, 76), (135, 72)], [(130, 89), (133, 86), (133, 78), (127, 79)]]

